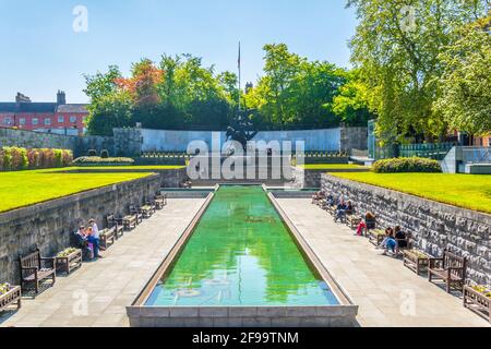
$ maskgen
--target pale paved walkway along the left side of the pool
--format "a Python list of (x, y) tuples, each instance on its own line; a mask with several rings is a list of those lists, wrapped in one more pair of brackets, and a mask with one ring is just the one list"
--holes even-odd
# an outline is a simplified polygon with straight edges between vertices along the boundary
[(170, 200), (169, 205), (86, 263), (69, 277), (57, 278), (21, 311), (0, 317), (0, 326), (128, 326), (125, 306), (155, 273), (204, 200)]

